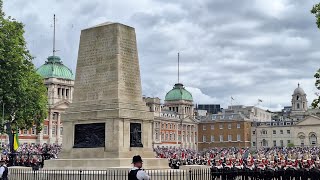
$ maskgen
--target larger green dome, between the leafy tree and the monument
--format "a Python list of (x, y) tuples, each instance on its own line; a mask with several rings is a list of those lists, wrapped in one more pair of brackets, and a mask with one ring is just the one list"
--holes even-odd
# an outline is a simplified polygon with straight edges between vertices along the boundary
[(74, 80), (74, 74), (67, 66), (62, 64), (58, 56), (49, 56), (48, 61), (37, 69), (37, 73), (43, 78)]

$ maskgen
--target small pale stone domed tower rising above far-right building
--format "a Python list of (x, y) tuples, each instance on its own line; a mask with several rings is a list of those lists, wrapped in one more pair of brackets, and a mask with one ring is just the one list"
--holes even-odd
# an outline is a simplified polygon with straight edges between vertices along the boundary
[(306, 112), (308, 110), (307, 94), (298, 84), (292, 95), (292, 111)]

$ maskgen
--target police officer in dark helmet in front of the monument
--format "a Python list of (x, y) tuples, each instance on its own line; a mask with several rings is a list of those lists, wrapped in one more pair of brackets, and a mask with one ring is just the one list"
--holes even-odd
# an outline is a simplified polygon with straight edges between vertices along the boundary
[(133, 168), (129, 172), (128, 180), (149, 180), (149, 175), (142, 168), (141, 156), (133, 156)]

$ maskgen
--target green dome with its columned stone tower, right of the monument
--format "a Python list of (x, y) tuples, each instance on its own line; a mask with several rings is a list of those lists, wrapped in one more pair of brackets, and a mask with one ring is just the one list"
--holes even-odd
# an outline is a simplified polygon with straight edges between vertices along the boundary
[(164, 106), (170, 111), (177, 112), (182, 118), (193, 116), (192, 94), (181, 83), (175, 84), (166, 94)]

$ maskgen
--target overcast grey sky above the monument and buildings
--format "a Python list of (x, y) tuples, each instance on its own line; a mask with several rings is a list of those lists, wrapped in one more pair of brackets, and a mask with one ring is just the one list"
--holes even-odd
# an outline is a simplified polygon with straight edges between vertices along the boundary
[(106, 21), (136, 29), (143, 94), (164, 99), (181, 81), (194, 103), (291, 104), (298, 82), (309, 104), (320, 67), (320, 30), (310, 13), (315, 0), (4, 0), (7, 15), (25, 24), (37, 67), (57, 53), (75, 71), (81, 29)]

